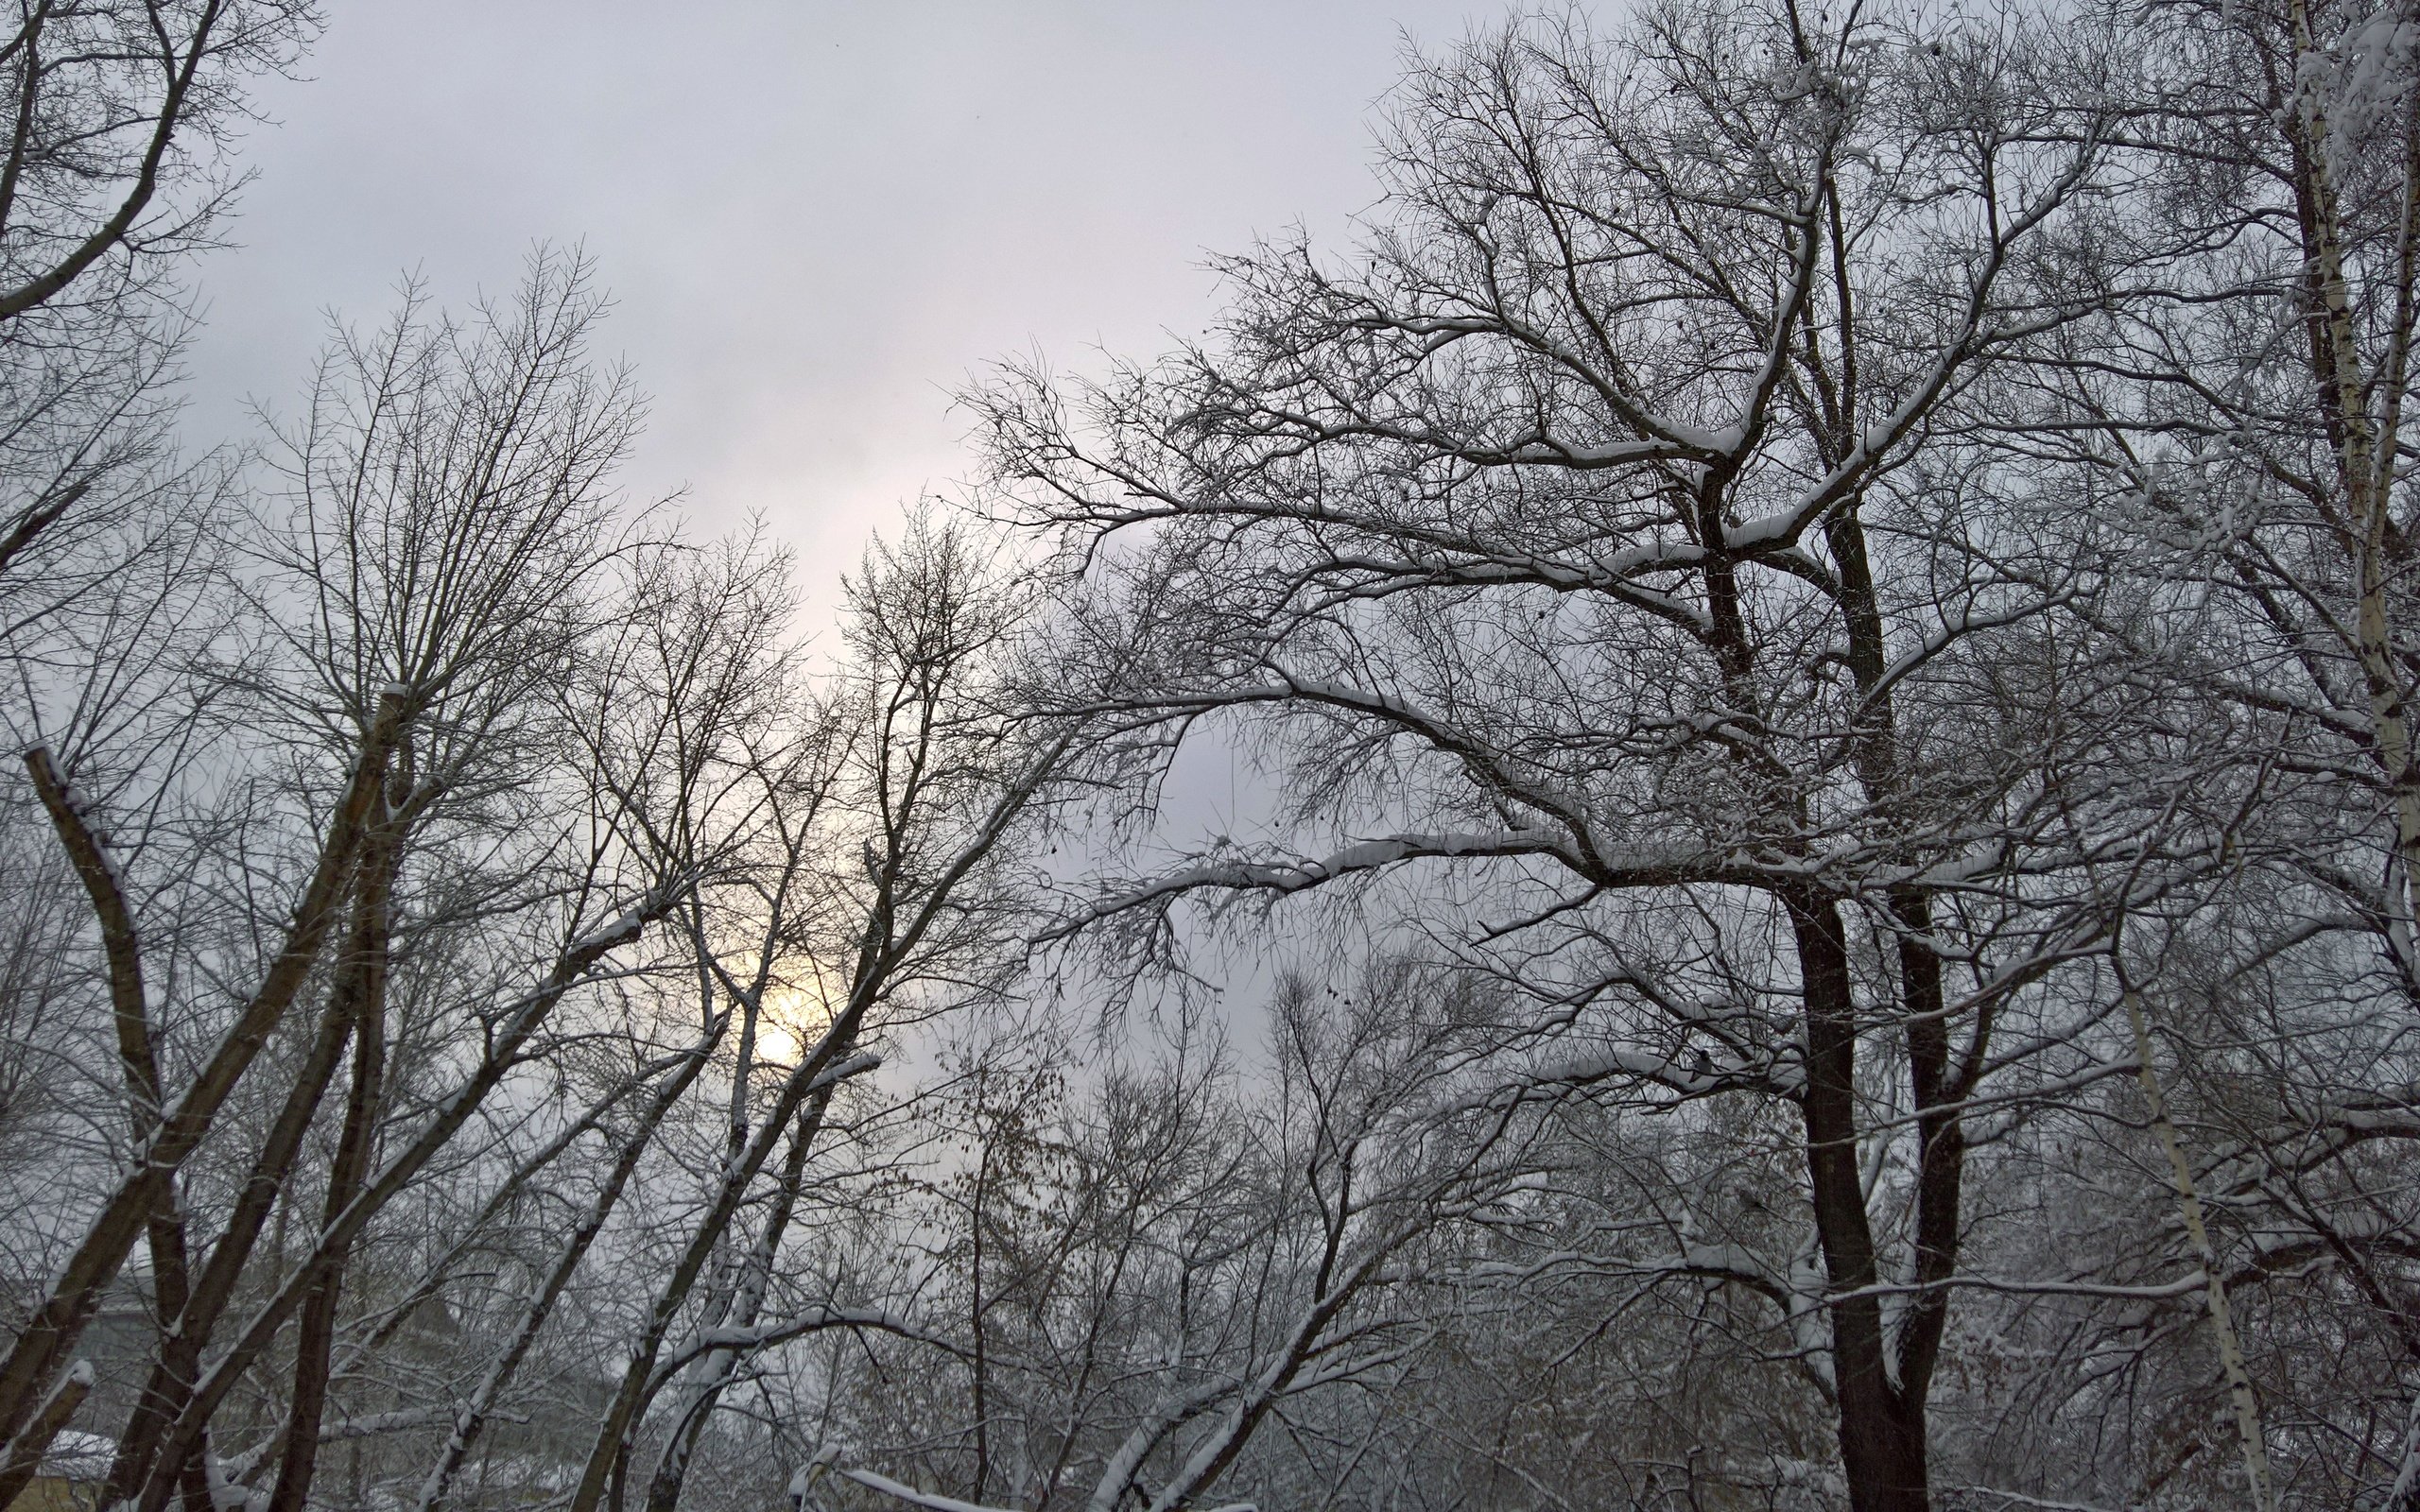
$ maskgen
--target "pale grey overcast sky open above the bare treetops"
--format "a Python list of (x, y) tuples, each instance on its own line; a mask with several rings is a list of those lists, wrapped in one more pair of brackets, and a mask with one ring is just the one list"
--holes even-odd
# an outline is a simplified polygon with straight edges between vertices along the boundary
[(201, 273), (194, 428), (293, 406), (324, 312), (445, 302), (586, 242), (653, 394), (629, 474), (832, 566), (966, 474), (949, 392), (1019, 351), (1150, 356), (1203, 256), (1372, 198), (1401, 39), (1498, 0), (336, 0)]

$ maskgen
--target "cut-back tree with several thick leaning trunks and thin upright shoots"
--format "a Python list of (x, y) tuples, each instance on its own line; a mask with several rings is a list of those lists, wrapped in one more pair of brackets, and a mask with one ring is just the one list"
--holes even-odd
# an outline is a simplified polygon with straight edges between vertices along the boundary
[[(583, 363), (593, 314), (583, 273), (540, 259), (518, 305), (491, 310), (477, 331), (431, 329), (407, 310), (322, 373), (293, 440), (293, 515), (264, 520), (247, 573), (266, 634), (232, 697), (257, 711), (254, 738), (213, 755), (259, 762), (278, 789), (290, 774), (302, 823), (254, 810), (237, 852), (121, 856), (73, 769), (44, 748), (29, 755), (97, 922), (136, 1159), (70, 1210), (82, 1239), (0, 1372), (0, 1406), (22, 1430), (10, 1473), (31, 1473), (36, 1439), (63, 1425), (39, 1403), (73, 1379), (60, 1372), (148, 1224), (160, 1347), (119, 1442), (114, 1495), (165, 1505), (184, 1485), (206, 1497), (213, 1415), (298, 1318), (278, 1495), (300, 1505), (353, 1243), (513, 1077), (549, 1011), (687, 885), (682, 859), (615, 832), (610, 793), (576, 767), (547, 769), (540, 733), (542, 711), (559, 706), (549, 687), (593, 634), (605, 576), (627, 552), (603, 486), (634, 409)], [(566, 777), (588, 798), (544, 832), (506, 803), (532, 789), (559, 801)], [(499, 854), (515, 823), (520, 844)], [(436, 893), (399, 890), (448, 854), (462, 871), (433, 866)], [(249, 873), (261, 910), (223, 919), (252, 931), (249, 951), (242, 936), (165, 927), (184, 888), (211, 888), (211, 871), (230, 864)], [(148, 876), (152, 866), (182, 876)], [(416, 1045), (419, 1064), (399, 1077), (390, 999), (436, 968), (414, 946), (443, 939), (448, 907), (520, 948), (489, 956), (494, 997), (467, 1018), (477, 1038), (465, 1045), (465, 1021), (445, 1026), (448, 1043)], [(525, 924), (535, 934), (513, 941)], [(310, 1050), (288, 1062), (273, 1115), (230, 1120), (240, 1091), (259, 1096), (264, 1050), (288, 1038)], [(341, 1137), (322, 1212), (305, 1219), (317, 1239), (288, 1270), (257, 1243), (271, 1214), (283, 1229), (302, 1198), (298, 1156), (344, 1060), (353, 1072)], [(191, 1185), (177, 1195), (196, 1156), (235, 1181), (230, 1207), (196, 1212)], [(194, 1217), (223, 1222), (189, 1256)], [(276, 1268), (266, 1297), (261, 1258)]]

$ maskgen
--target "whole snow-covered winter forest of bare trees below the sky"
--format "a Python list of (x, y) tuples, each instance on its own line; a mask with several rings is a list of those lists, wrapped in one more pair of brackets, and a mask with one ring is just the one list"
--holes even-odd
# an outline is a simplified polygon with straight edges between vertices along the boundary
[(0, 1507), (2420, 1510), (2413, 0), (1406, 44), (837, 588), (179, 426), (344, 24), (0, 27)]

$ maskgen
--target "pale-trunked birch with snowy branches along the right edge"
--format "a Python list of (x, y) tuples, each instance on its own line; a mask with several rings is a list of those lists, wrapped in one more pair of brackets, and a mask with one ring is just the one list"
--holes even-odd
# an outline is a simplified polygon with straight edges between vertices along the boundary
[(2260, 769), (2234, 878), (2144, 929), (2134, 977), (2193, 1178), (2222, 1193), (2219, 1268), (2255, 1287), (2280, 1493), (2401, 1481), (2391, 1502), (2420, 1483), (2420, 1234), (2386, 1195), (2410, 1181), (2420, 1077), (2401, 431), (2420, 63), (2401, 5), (2154, 7), (2142, 36), (2137, 189), (2088, 242), (2108, 307), (2042, 353), (2038, 438), (2098, 477), (2166, 585), (2125, 634)]

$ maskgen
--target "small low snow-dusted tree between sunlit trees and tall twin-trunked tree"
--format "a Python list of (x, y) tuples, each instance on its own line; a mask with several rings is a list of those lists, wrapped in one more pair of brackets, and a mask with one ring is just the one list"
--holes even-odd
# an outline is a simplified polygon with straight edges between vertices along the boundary
[(1471, 1096), (1493, 1028), (1474, 987), (1404, 960), (1287, 975), (1266, 1077), (1239, 1077), (1191, 1014), (1152, 1062), (1082, 1091), (1048, 1048), (1024, 1079), (987, 1069), (927, 1304), (958, 1360), (946, 1384), (912, 1357), (828, 1379), (799, 1495), (1166, 1510), (1336, 1493), (1350, 1456), (1292, 1466), (1275, 1444), (1411, 1374), (1445, 1328), (1413, 1299), (1450, 1236), (1537, 1176), (1534, 1120)]

